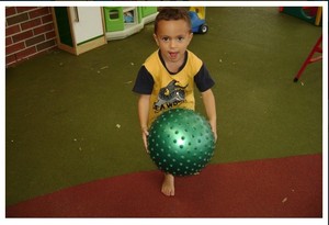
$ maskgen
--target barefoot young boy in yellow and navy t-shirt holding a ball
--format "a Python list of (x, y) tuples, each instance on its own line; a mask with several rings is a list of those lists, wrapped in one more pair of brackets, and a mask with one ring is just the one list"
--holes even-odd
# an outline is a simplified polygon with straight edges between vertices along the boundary
[[(183, 9), (164, 8), (156, 18), (154, 38), (159, 47), (138, 71), (133, 91), (139, 93), (138, 115), (147, 149), (148, 128), (163, 111), (172, 108), (194, 110), (194, 83), (202, 93), (212, 131), (217, 139), (215, 85), (203, 61), (188, 46), (193, 37), (191, 19)], [(164, 173), (164, 195), (174, 195), (174, 177)]]

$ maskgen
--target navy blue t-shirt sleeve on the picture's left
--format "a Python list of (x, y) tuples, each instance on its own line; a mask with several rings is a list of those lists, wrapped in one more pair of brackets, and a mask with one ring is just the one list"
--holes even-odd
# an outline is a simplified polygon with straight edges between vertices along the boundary
[(141, 66), (137, 74), (133, 91), (139, 94), (151, 94), (154, 85), (155, 81), (152, 76), (148, 72), (145, 66)]

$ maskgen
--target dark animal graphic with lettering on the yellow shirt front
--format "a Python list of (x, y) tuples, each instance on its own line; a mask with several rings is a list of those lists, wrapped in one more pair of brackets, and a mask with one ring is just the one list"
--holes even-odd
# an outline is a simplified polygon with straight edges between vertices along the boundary
[(155, 112), (160, 112), (170, 109), (185, 101), (185, 87), (180, 86), (180, 82), (172, 80), (167, 87), (161, 88), (158, 94), (158, 101), (154, 103)]

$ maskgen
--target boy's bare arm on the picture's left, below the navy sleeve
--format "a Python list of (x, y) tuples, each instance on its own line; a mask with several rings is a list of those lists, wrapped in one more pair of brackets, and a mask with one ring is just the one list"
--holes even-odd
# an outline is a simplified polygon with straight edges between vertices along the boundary
[(138, 100), (138, 116), (139, 116), (139, 124), (141, 128), (141, 137), (144, 142), (144, 146), (146, 151), (148, 153), (147, 149), (147, 136), (148, 136), (148, 111), (149, 111), (149, 94), (140, 94), (139, 100)]

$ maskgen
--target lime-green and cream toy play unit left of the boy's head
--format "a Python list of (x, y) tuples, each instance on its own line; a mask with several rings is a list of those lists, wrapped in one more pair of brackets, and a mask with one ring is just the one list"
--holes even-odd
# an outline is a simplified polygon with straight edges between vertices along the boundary
[(122, 40), (152, 22), (157, 7), (104, 7), (106, 40)]

